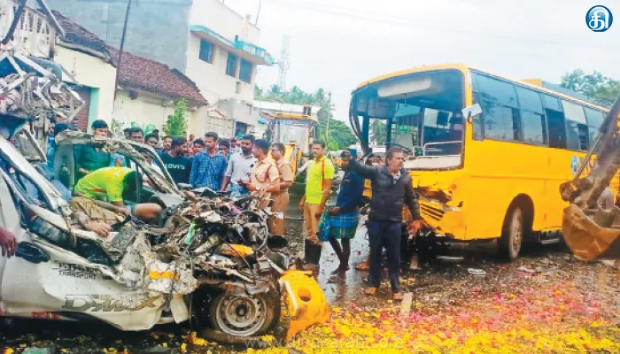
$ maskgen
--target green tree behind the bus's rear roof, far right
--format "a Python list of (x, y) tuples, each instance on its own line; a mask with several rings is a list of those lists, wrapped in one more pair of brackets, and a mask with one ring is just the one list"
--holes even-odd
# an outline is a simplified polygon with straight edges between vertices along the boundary
[(604, 76), (594, 71), (585, 73), (582, 69), (575, 69), (562, 76), (562, 88), (572, 89), (589, 98), (601, 101), (602, 104), (612, 104), (620, 96), (620, 81)]

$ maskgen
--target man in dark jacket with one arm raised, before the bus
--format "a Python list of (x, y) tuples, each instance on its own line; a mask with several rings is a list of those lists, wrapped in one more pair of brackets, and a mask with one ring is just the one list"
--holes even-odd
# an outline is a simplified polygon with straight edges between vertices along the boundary
[(394, 147), (387, 152), (386, 165), (367, 166), (350, 159), (347, 170), (359, 173), (372, 183), (368, 241), (370, 242), (370, 274), (365, 293), (375, 296), (381, 285), (382, 251), (387, 251), (388, 274), (394, 300), (403, 298), (400, 291), (400, 240), (403, 205), (411, 212), (410, 230), (417, 233), (422, 227), (420, 205), (415, 196), (411, 176), (403, 169), (405, 154)]

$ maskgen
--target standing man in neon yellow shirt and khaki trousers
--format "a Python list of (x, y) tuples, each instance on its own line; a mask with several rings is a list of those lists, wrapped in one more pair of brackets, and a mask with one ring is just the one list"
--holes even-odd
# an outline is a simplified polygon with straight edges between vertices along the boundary
[(331, 194), (331, 182), (335, 173), (334, 165), (325, 156), (325, 142), (313, 142), (312, 153), (314, 160), (307, 167), (306, 193), (299, 202), (299, 208), (304, 211), (306, 220), (307, 235), (304, 247), (306, 269), (315, 269), (319, 266), (322, 250), (322, 243), (317, 236), (319, 219)]

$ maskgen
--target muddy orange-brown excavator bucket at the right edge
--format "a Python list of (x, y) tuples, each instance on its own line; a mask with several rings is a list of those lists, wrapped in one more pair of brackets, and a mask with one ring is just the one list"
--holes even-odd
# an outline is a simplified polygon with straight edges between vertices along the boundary
[(586, 215), (575, 204), (564, 209), (562, 236), (577, 258), (620, 259), (620, 209)]

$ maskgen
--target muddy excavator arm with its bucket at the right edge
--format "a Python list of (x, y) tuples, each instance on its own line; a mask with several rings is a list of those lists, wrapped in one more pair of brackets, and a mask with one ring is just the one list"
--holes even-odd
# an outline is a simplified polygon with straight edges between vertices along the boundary
[[(592, 166), (592, 170), (584, 175), (587, 166)], [(620, 96), (603, 121), (601, 134), (579, 165), (575, 179), (560, 186), (562, 199), (570, 202), (562, 216), (562, 236), (577, 258), (620, 259), (620, 209), (604, 210), (598, 203), (618, 168)]]

